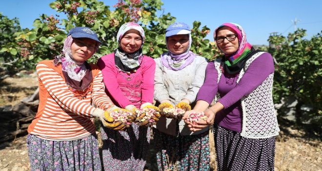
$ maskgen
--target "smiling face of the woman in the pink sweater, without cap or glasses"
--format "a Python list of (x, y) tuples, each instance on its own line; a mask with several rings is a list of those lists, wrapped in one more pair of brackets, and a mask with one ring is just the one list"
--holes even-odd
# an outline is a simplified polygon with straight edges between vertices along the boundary
[(141, 48), (142, 38), (138, 30), (131, 29), (125, 32), (120, 42), (121, 48), (126, 53), (133, 53)]

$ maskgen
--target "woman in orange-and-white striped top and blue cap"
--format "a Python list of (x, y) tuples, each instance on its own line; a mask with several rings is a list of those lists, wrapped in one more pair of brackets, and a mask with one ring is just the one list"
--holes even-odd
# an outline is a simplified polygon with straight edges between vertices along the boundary
[(123, 125), (109, 116), (119, 107), (104, 92), (101, 70), (86, 62), (100, 43), (90, 28), (75, 27), (60, 55), (37, 64), (40, 102), (27, 137), (32, 171), (101, 171), (94, 117), (107, 128)]

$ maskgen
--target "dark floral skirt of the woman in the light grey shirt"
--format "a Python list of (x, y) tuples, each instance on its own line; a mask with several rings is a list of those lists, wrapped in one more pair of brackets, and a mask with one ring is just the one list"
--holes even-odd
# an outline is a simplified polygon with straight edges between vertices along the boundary
[(172, 136), (153, 128), (159, 171), (209, 171), (208, 132)]

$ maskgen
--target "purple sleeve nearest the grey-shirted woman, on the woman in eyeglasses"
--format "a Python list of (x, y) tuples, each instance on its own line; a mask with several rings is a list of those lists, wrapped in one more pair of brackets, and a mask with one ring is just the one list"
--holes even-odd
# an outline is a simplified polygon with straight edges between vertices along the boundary
[(209, 105), (211, 104), (218, 91), (217, 79), (218, 72), (215, 68), (215, 64), (214, 62), (210, 62), (206, 67), (205, 80), (198, 92), (196, 101), (203, 100), (208, 102)]

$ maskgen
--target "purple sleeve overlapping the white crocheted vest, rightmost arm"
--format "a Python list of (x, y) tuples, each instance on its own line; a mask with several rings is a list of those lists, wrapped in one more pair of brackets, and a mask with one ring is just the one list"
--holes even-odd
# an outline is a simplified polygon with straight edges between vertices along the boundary
[(242, 97), (250, 94), (256, 87), (274, 72), (274, 63), (271, 54), (263, 53), (247, 68), (235, 88), (218, 100), (224, 108), (230, 107)]

